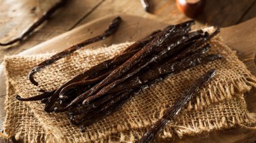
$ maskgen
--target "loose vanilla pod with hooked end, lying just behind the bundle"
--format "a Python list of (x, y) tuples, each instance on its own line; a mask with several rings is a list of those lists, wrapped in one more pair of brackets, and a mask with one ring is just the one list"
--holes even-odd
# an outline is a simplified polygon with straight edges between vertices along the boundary
[(117, 31), (121, 21), (122, 21), (122, 18), (120, 18), (120, 17), (115, 18), (110, 23), (109, 28), (107, 28), (107, 30), (105, 30), (104, 33), (102, 33), (100, 36), (96, 36), (91, 39), (87, 39), (86, 41), (83, 41), (80, 44), (73, 45), (72, 47), (67, 48), (64, 51), (56, 53), (55, 55), (51, 56), (51, 58), (49, 60), (43, 61), (42, 63), (38, 64), (38, 66), (35, 66), (35, 68), (33, 68), (30, 71), (30, 73), (28, 74), (30, 82), (37, 86), (38, 82), (36, 82), (33, 77), (33, 75), (36, 72), (40, 71), (43, 68), (46, 68), (50, 64), (59, 60), (60, 58), (64, 58), (65, 56), (70, 55), (71, 53), (75, 52), (76, 50), (85, 47), (86, 45), (93, 44), (94, 42), (106, 39), (107, 37), (111, 36), (112, 34), (114, 34)]

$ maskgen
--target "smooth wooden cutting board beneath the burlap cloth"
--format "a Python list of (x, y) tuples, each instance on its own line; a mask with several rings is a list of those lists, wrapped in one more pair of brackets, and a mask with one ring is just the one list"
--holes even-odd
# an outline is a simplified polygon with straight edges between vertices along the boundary
[[(136, 41), (151, 33), (155, 29), (162, 29), (167, 26), (167, 23), (160, 23), (159, 21), (149, 20), (146, 18), (120, 15), (123, 18), (123, 22), (120, 25), (117, 33), (114, 36), (110, 36), (104, 41), (97, 42), (90, 45), (111, 45), (118, 44), (126, 41)], [(79, 42), (88, 39), (89, 37), (97, 36), (107, 28), (110, 21), (115, 16), (107, 16), (99, 18), (95, 21), (91, 21), (86, 25), (79, 28), (68, 31), (60, 36), (36, 45), (29, 50), (25, 50), (19, 55), (31, 55), (36, 53), (58, 52), (70, 47), (71, 45), (78, 44)], [(225, 43), (237, 51), (239, 59), (242, 60), (247, 68), (256, 75), (255, 66), (255, 52), (256, 52), (256, 18), (241, 23), (239, 25), (231, 26), (228, 28), (222, 28), (220, 35), (223, 37)], [(171, 23), (176, 24), (176, 23)], [(86, 48), (86, 47), (85, 47)], [(4, 95), (6, 94), (5, 78), (3, 74), (3, 68), (0, 67), (0, 123), (3, 122), (4, 112)], [(246, 96), (248, 109), (250, 112), (256, 112), (256, 91), (252, 91)], [(209, 134), (203, 134), (199, 136), (184, 137), (179, 139), (175, 137), (173, 142), (254, 142), (256, 141), (256, 129), (242, 129), (233, 128), (226, 131), (213, 131)]]

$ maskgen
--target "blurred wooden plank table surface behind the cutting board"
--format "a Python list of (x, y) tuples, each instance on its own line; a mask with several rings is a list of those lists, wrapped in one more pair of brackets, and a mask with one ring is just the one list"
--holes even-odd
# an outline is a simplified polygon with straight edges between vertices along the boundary
[[(40, 3), (42, 1), (43, 4)], [(56, 1), (59, 0), (0, 0), (0, 42), (19, 36)], [(179, 23), (190, 19), (177, 9), (175, 0), (151, 0), (151, 4), (151, 14), (149, 14), (144, 12), (139, 0), (68, 1), (25, 41), (9, 47), (0, 47), (0, 62), (4, 55), (20, 53), (107, 14), (139, 15), (165, 23)], [(225, 27), (253, 17), (256, 17), (256, 0), (208, 0), (204, 11), (196, 19), (199, 26), (207, 23), (207, 25)]]

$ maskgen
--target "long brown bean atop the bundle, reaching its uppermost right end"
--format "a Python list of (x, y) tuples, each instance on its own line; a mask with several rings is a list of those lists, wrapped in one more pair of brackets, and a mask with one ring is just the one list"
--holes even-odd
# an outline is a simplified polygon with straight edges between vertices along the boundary
[[(63, 108), (63, 109), (56, 108), (56, 111), (64, 112), (65, 110), (72, 107), (73, 104), (83, 101), (84, 99), (86, 99), (86, 97), (93, 95), (100, 88), (104, 87), (108, 83), (112, 82), (113, 80), (117, 79), (121, 75), (125, 74), (125, 72), (127, 72), (135, 64), (137, 64), (139, 61), (141, 61), (142, 58), (144, 58), (147, 55), (150, 55), (152, 52), (154, 52), (155, 47), (159, 47), (164, 42), (166, 42), (167, 39), (171, 38), (175, 34), (178, 34), (178, 36), (180, 36), (179, 33), (183, 33), (183, 31), (185, 31), (185, 32), (189, 31), (192, 24), (194, 24), (194, 21), (186, 21), (184, 23), (181, 23), (180, 25), (168, 26), (167, 28), (163, 29), (162, 32), (157, 33), (157, 36), (155, 36), (155, 38), (151, 42), (149, 42), (149, 44), (147, 44), (145, 47), (143, 47), (141, 50), (139, 50), (139, 52), (137, 52), (135, 55), (133, 55), (129, 60), (127, 60), (125, 63), (123, 63), (119, 68), (115, 69), (104, 80), (102, 80), (100, 83), (98, 83), (96, 86), (94, 86), (90, 90), (86, 91), (82, 95), (76, 97), (65, 108)], [(181, 29), (181, 31), (179, 31), (179, 29)], [(189, 38), (189, 36), (187, 38)], [(184, 38), (184, 39), (182, 38), (180, 41), (176, 42), (176, 44), (180, 44), (180, 42), (183, 42), (183, 41), (186, 41), (186, 38)], [(162, 52), (162, 53), (166, 53), (166, 52)]]

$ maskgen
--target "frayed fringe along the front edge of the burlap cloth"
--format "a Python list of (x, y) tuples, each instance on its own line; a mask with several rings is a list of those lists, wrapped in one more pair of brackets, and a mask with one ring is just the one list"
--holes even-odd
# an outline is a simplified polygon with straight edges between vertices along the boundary
[[(235, 129), (235, 128), (246, 128), (246, 129), (256, 129), (256, 114), (250, 113), (246, 107), (246, 101), (244, 97), (237, 98), (241, 101), (241, 106), (244, 108), (244, 116), (242, 117), (233, 117), (232, 120), (222, 117), (222, 120), (216, 124), (210, 122), (202, 123), (199, 122), (199, 126), (190, 124), (190, 128), (184, 126), (175, 125), (175, 123), (170, 123), (167, 128), (159, 134), (158, 137), (155, 137), (154, 142), (170, 142), (172, 141), (173, 136), (176, 134), (181, 139), (186, 136), (194, 136), (198, 134), (209, 134), (212, 131), (219, 131), (225, 129)], [(222, 103), (220, 103), (222, 104)], [(163, 113), (165, 109), (162, 109)], [(163, 114), (162, 114), (163, 115)], [(162, 116), (160, 115), (160, 116)], [(158, 118), (152, 117), (153, 122), (156, 122)], [(141, 123), (148, 123), (147, 125), (142, 125)], [(149, 128), (151, 122), (149, 120), (142, 120), (138, 123), (133, 123), (133, 130), (129, 131), (125, 128), (119, 128), (115, 133), (101, 133), (105, 134), (99, 140), (94, 140), (95, 142), (135, 142), (136, 138), (140, 138)], [(175, 134), (173, 134), (175, 133)]]

